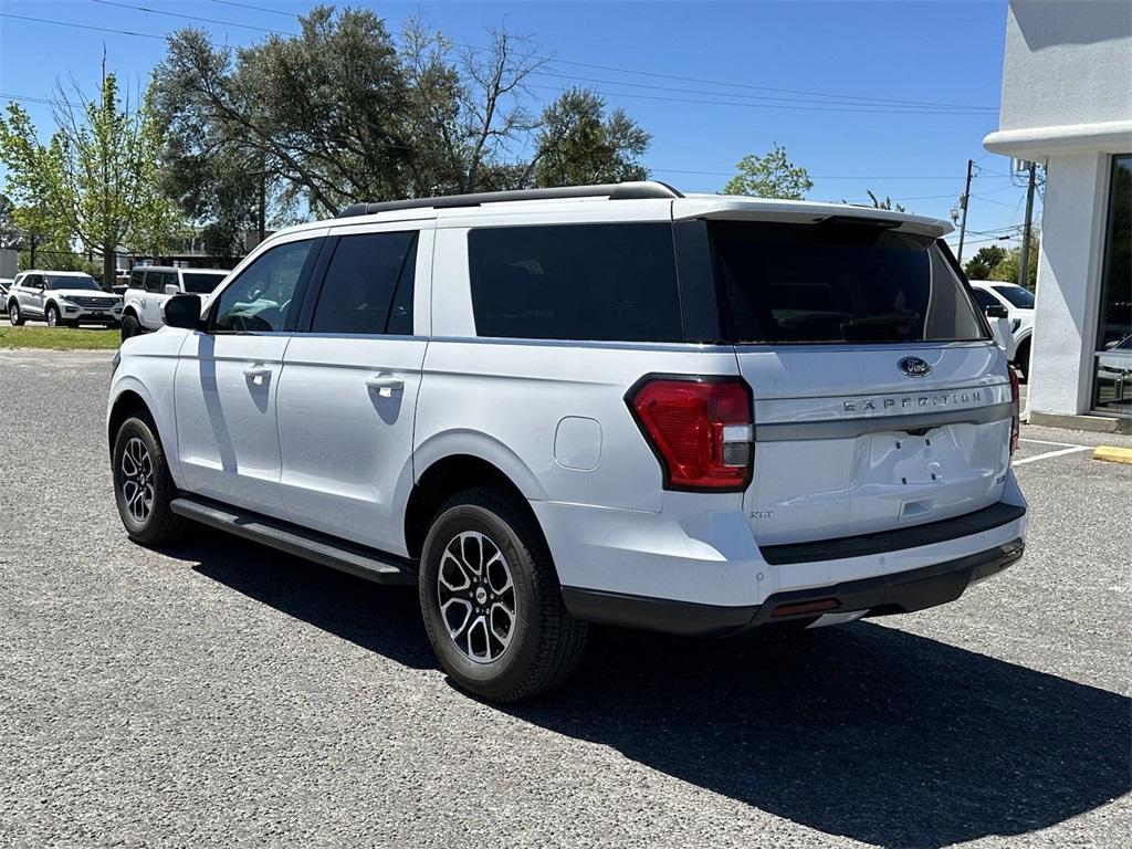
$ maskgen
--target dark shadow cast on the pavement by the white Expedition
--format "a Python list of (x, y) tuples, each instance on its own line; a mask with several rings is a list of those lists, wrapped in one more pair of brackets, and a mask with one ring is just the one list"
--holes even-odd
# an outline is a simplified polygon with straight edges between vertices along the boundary
[[(225, 539), (168, 554), (406, 667), (437, 666), (414, 590)], [(1130, 790), (1132, 700), (874, 623), (727, 641), (594, 628), (571, 683), (500, 710), (883, 847), (1032, 832)]]

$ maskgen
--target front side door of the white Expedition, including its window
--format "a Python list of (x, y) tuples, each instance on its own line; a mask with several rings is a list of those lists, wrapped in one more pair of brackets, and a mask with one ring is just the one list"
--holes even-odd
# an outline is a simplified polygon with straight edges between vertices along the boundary
[(190, 492), (283, 517), (276, 398), (317, 239), (276, 245), (216, 297), (181, 349), (178, 456)]

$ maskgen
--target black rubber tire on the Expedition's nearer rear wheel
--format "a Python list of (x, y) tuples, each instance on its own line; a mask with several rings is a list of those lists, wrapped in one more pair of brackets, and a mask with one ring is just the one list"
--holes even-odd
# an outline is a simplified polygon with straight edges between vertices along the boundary
[[(491, 702), (515, 702), (561, 684), (577, 666), (585, 645), (588, 625), (574, 619), (563, 604), (550, 551), (524, 507), (496, 489), (471, 489), (455, 495), (437, 511), (421, 557), (418, 591), (432, 649), (460, 687)], [(509, 643), (487, 662), (473, 660), (457, 644), (458, 635), (453, 636), (440, 609), (441, 558), (449, 546), (462, 544), (457, 539), (469, 532), (482, 534), (498, 549), (514, 588), (516, 615), (512, 619)], [(479, 550), (482, 563), (483, 548)], [(451, 561), (446, 568), (453, 568)], [(473, 602), (474, 595), (461, 604)], [(494, 604), (491, 609), (495, 610)], [(474, 610), (474, 607), (469, 609), (469, 619)], [(458, 612), (454, 618), (458, 620)], [(472, 627), (465, 633), (471, 634)], [(489, 655), (490, 651), (484, 653)]]

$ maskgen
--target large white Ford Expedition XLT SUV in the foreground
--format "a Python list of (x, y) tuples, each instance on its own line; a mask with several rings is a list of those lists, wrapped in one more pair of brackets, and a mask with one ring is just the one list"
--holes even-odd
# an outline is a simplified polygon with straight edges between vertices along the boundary
[(947, 230), (623, 183), (283, 231), (122, 345), (122, 521), (415, 583), (444, 668), (499, 701), (560, 681), (588, 623), (952, 601), (1021, 556), (1026, 501)]

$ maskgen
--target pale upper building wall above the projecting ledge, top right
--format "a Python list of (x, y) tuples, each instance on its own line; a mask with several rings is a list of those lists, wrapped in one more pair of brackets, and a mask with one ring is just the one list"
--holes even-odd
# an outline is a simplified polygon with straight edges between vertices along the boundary
[(1132, 117), (1132, 2), (1012, 0), (998, 127)]

